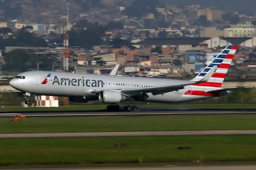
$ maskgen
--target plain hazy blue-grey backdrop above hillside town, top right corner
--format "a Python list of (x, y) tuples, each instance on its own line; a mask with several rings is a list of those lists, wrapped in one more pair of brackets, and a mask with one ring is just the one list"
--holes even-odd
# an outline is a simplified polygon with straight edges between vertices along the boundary
[(229, 9), (245, 14), (256, 12), (256, 0), (160, 0), (166, 4), (177, 5), (201, 5), (204, 7), (216, 6), (222, 9)]

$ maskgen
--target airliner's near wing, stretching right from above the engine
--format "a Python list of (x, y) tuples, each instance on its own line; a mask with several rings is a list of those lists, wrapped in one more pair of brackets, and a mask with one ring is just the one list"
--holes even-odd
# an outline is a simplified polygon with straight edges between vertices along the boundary
[(121, 93), (124, 93), (129, 96), (138, 95), (140, 93), (152, 93), (152, 95), (163, 95), (171, 91), (178, 91), (184, 89), (186, 85), (192, 85), (195, 82), (183, 83), (183, 84), (174, 84), (174, 85), (164, 85), (164, 86), (154, 86), (154, 87), (142, 87), (136, 89), (124, 89), (121, 90)]

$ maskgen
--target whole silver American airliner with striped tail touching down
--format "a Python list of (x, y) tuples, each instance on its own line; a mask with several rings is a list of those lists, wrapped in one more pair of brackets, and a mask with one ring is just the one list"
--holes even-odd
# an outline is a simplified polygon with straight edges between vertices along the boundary
[(73, 102), (99, 100), (109, 103), (108, 111), (118, 111), (117, 105), (128, 101), (126, 111), (137, 110), (134, 101), (178, 103), (219, 97), (232, 89), (221, 85), (234, 57), (237, 45), (228, 45), (214, 60), (190, 81), (147, 77), (116, 76), (119, 65), (109, 75), (28, 71), (17, 75), (10, 85), (28, 97), (49, 95), (69, 97)]

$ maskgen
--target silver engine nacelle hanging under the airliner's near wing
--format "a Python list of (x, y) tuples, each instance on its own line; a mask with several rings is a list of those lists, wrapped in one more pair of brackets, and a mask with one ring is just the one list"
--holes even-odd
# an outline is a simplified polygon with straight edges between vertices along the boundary
[(117, 91), (102, 90), (99, 93), (99, 100), (101, 103), (119, 103), (120, 101), (130, 101), (131, 97)]

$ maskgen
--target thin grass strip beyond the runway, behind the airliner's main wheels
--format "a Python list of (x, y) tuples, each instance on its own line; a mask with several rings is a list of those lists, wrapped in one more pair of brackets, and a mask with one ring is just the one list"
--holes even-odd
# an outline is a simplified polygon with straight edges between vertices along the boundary
[[(125, 104), (120, 105), (124, 107)], [(21, 107), (6, 105), (0, 108), (1, 112), (6, 111), (90, 111), (106, 110), (107, 105), (70, 105), (68, 107)], [(187, 109), (256, 109), (254, 103), (232, 103), (232, 104), (138, 104), (140, 110), (162, 109), (162, 110), (187, 110)]]

